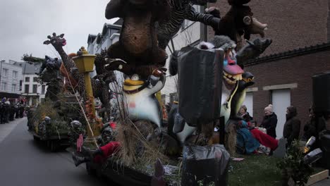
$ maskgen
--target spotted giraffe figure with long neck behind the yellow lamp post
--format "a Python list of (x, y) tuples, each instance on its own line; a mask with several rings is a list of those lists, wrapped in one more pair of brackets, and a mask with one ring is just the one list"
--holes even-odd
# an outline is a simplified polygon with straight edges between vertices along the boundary
[[(85, 80), (84, 75), (78, 72), (77, 66), (75, 66), (75, 62), (72, 60), (68, 54), (63, 50), (63, 46), (66, 45), (66, 39), (64, 39), (64, 34), (56, 35), (53, 33), (53, 36), (50, 35), (47, 37), (48, 40), (44, 41), (44, 44), (51, 44), (54, 46), (59, 55), (62, 58), (63, 66), (66, 68), (66, 71), (73, 77), (74, 80), (78, 82), (78, 92), (84, 100), (87, 100), (86, 92), (85, 92)], [(96, 63), (99, 62), (101, 58), (97, 58)], [(109, 102), (109, 81), (106, 78), (91, 78), (92, 89), (94, 97), (99, 97), (102, 101), (102, 105), (106, 108), (107, 118), (110, 118), (111, 106)]]

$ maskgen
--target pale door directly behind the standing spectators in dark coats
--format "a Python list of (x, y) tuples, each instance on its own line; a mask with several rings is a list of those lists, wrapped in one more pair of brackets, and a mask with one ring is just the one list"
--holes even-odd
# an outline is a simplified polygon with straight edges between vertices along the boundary
[(290, 89), (276, 89), (271, 92), (273, 111), (277, 115), (276, 138), (283, 137), (283, 127), (286, 123), (286, 108), (291, 105)]

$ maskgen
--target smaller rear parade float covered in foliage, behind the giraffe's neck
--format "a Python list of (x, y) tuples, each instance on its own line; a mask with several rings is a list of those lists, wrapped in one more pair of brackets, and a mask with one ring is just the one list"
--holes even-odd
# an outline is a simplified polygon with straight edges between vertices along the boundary
[(47, 85), (45, 101), (27, 109), (27, 128), (36, 141), (46, 143), (51, 151), (68, 146), (68, 120), (80, 119), (80, 108), (74, 95), (64, 87), (60, 73), (61, 59), (23, 56), (27, 63), (41, 63), (37, 81)]

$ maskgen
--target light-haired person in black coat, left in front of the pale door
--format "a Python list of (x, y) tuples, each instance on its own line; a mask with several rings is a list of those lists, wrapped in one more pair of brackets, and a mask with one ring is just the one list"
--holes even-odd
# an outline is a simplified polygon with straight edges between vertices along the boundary
[(273, 111), (273, 105), (269, 104), (264, 108), (264, 119), (260, 127), (266, 128), (267, 135), (276, 138), (277, 116)]

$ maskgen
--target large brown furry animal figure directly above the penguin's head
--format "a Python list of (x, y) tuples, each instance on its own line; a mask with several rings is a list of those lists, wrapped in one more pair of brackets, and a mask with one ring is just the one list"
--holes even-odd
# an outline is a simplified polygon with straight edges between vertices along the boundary
[(107, 54), (123, 61), (110, 62), (107, 69), (126, 75), (161, 76), (167, 55), (157, 45), (154, 23), (166, 18), (168, 9), (166, 0), (111, 0), (105, 16), (123, 18), (123, 27), (119, 41), (109, 47)]

